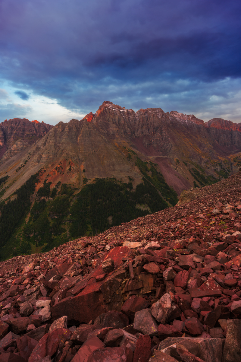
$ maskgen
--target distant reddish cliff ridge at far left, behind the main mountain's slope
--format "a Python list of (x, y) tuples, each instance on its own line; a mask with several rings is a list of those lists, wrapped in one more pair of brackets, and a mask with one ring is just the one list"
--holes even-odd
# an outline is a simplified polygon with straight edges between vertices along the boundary
[(0, 159), (4, 162), (44, 137), (53, 126), (36, 119), (5, 119), (0, 123)]

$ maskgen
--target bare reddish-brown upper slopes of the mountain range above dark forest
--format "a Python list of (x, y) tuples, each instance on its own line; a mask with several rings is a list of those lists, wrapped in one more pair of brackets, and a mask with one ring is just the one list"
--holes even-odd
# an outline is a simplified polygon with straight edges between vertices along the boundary
[(106, 101), (81, 121), (52, 127), (17, 118), (1, 123), (0, 132), (0, 176), (7, 172), (8, 183), (15, 180), (6, 195), (39, 169), (44, 170), (42, 182), (52, 182), (51, 188), (59, 181), (80, 188), (84, 179), (112, 176), (125, 181), (132, 177), (136, 185), (143, 176), (137, 157), (157, 164), (178, 194), (240, 167), (241, 124), (220, 118), (204, 123), (194, 115), (160, 108), (134, 112)]

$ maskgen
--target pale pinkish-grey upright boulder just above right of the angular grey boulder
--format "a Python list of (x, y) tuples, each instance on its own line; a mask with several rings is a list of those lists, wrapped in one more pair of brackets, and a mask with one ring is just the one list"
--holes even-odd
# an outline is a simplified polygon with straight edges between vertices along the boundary
[(171, 316), (171, 306), (171, 296), (168, 293), (165, 293), (162, 298), (160, 298), (156, 303), (152, 304), (151, 314), (158, 322), (165, 324)]

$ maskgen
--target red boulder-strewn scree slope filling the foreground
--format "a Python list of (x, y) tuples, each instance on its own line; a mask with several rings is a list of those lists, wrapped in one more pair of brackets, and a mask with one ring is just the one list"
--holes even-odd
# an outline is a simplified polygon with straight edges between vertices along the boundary
[(194, 201), (1, 262), (1, 360), (238, 361), (240, 271), (238, 172)]

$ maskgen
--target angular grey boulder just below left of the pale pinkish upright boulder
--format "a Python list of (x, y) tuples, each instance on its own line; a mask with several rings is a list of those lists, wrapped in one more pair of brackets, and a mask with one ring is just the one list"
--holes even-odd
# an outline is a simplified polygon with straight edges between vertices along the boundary
[(148, 334), (150, 337), (158, 336), (158, 325), (149, 308), (135, 313), (134, 329), (142, 334)]

